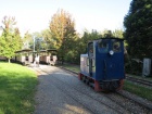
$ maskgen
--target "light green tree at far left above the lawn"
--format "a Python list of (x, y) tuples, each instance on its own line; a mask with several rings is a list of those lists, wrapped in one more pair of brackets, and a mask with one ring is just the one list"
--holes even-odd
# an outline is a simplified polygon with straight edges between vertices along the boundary
[(0, 55), (10, 59), (15, 55), (15, 51), (21, 49), (22, 39), (18, 28), (13, 28), (16, 24), (14, 17), (4, 16), (2, 23), (4, 24), (2, 36), (0, 37)]

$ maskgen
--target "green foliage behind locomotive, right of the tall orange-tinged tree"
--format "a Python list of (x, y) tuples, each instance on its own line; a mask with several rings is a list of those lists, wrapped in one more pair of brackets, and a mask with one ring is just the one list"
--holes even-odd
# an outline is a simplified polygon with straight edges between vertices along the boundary
[(91, 33), (89, 33), (88, 30), (86, 30), (84, 31), (84, 35), (81, 38), (78, 38), (77, 36), (75, 40), (71, 40), (72, 37), (69, 37), (67, 42), (65, 43), (65, 47), (68, 49), (68, 51), (59, 51), (59, 53), (62, 53), (62, 52), (66, 53), (65, 61), (79, 64), (80, 54), (87, 53), (88, 42), (94, 39), (105, 38), (105, 37), (123, 38), (123, 30), (116, 29), (114, 31), (111, 31), (111, 30), (105, 29), (102, 33), (99, 33), (97, 30), (92, 30)]

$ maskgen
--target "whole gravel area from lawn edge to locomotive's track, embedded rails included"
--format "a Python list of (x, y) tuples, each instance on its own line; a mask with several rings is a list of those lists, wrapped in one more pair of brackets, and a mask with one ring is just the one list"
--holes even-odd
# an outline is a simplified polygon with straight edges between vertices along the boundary
[(131, 113), (58, 67), (40, 65), (34, 68), (39, 71), (39, 85), (35, 98), (37, 105), (34, 114)]

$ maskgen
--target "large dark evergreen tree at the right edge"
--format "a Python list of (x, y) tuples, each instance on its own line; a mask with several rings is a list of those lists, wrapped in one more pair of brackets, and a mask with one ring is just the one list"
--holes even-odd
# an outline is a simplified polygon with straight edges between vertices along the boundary
[(132, 0), (124, 18), (125, 39), (134, 58), (152, 56), (152, 0)]

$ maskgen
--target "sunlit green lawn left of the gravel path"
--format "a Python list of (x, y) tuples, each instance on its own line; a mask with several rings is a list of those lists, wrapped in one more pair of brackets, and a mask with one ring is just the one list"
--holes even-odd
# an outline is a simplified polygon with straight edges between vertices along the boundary
[(31, 114), (37, 84), (27, 67), (0, 62), (0, 114)]

